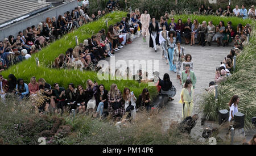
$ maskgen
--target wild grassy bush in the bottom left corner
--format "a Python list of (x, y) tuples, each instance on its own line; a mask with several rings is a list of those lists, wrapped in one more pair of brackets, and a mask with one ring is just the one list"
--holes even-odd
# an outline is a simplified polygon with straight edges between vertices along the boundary
[(69, 127), (64, 118), (39, 114), (31, 102), (26, 99), (18, 102), (16, 98), (0, 103), (0, 121), (0, 144), (35, 145), (39, 144), (39, 137), (49, 140)]

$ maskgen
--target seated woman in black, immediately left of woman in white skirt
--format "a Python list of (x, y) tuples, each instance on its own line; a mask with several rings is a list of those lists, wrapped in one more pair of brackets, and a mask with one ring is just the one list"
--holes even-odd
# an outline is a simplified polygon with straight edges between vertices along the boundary
[(82, 88), (82, 85), (77, 86), (77, 94), (77, 106), (79, 106), (79, 112), (85, 112), (89, 101), (89, 94)]

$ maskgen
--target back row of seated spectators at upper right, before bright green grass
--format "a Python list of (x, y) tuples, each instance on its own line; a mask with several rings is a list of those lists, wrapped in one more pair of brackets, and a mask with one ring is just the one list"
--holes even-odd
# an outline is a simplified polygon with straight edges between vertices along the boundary
[(181, 39), (184, 38), (185, 44), (190, 43), (191, 46), (193, 44), (205, 46), (206, 43), (211, 45), (212, 41), (217, 41), (218, 46), (223, 45), (225, 47), (234, 40), (236, 35), (247, 36), (251, 32), (250, 24), (246, 24), (244, 27), (240, 23), (236, 31), (231, 21), (227, 22), (226, 26), (223, 21), (214, 26), (212, 20), (210, 20), (207, 26), (206, 21), (199, 24), (197, 19), (193, 19), (192, 23), (191, 19), (188, 18), (186, 23), (183, 23), (181, 19), (178, 19), (175, 23), (175, 19), (171, 18), (171, 23), (168, 24), (166, 18), (162, 16), (160, 18), (160, 29), (163, 29), (163, 26), (166, 27), (166, 31), (175, 31), (176, 39), (180, 43)]

